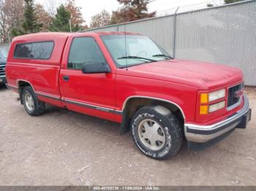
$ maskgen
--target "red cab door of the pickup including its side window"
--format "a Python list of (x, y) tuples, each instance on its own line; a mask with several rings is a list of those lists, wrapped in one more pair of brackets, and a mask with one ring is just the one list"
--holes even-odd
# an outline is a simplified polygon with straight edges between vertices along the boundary
[(108, 64), (96, 40), (90, 36), (72, 39), (69, 57), (61, 69), (60, 87), (68, 109), (113, 120), (115, 74), (83, 74), (88, 63)]

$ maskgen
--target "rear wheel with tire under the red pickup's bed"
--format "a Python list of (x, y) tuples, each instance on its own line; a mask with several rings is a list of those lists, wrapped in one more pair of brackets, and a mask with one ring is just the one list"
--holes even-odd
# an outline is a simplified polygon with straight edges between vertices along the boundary
[(22, 100), (26, 112), (31, 116), (39, 116), (45, 112), (45, 102), (39, 101), (31, 86), (23, 88)]

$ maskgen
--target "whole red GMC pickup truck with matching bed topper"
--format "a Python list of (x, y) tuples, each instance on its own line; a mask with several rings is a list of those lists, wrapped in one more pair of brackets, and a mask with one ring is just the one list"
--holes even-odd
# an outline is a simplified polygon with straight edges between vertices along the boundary
[(31, 116), (47, 103), (119, 122), (156, 159), (176, 155), (186, 139), (206, 148), (251, 117), (240, 69), (175, 60), (140, 34), (18, 36), (6, 72)]

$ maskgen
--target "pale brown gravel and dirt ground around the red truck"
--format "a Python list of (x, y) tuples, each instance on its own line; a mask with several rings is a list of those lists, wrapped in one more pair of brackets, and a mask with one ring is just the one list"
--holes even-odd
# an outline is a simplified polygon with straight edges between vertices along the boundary
[(184, 145), (169, 160), (144, 156), (119, 125), (48, 106), (30, 117), (0, 87), (0, 185), (256, 185), (256, 88), (252, 121), (203, 152)]

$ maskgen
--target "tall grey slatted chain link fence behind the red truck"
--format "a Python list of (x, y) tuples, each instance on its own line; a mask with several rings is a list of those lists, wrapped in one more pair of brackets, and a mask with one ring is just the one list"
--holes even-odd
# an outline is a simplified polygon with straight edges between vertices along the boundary
[(127, 32), (150, 36), (175, 58), (237, 67), (244, 71), (245, 85), (256, 86), (256, 1), (179, 12), (129, 22), (125, 27), (118, 24), (88, 31), (125, 31), (125, 28)]

